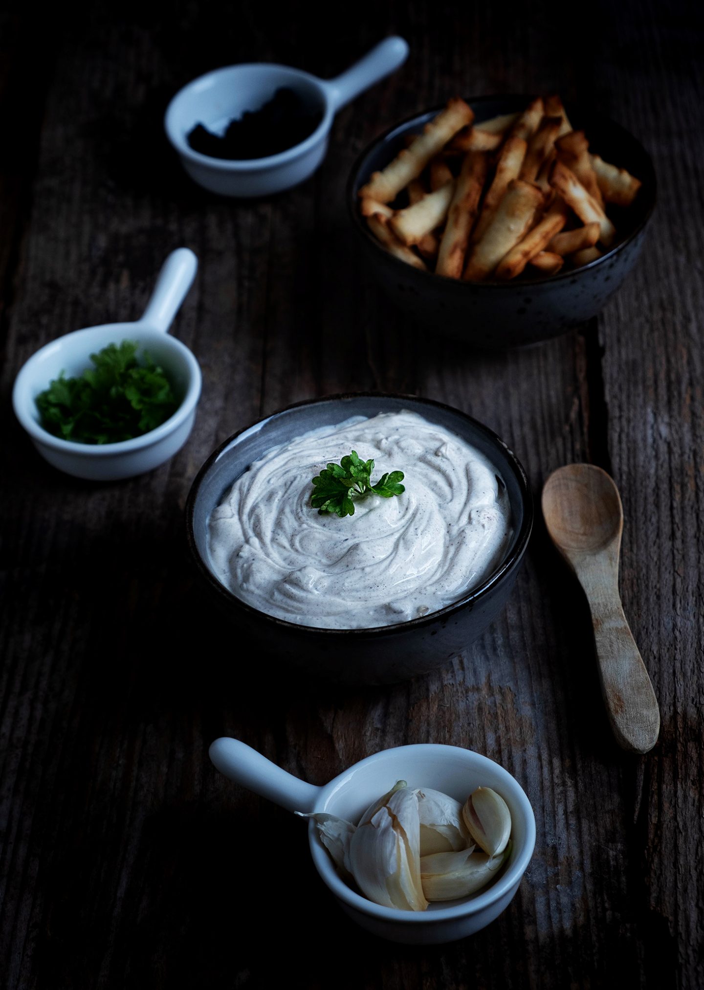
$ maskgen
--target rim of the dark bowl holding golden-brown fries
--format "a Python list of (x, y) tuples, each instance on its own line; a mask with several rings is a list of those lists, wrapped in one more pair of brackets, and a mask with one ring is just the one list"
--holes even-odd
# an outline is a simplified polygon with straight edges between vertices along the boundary
[[(535, 95), (526, 96), (522, 93), (500, 93), (496, 95), (467, 97), (466, 103), (468, 103), (469, 106), (472, 109), (474, 109), (476, 106), (478, 105), (480, 106), (484, 103), (494, 103), (501, 101), (505, 101), (507, 104), (510, 104), (513, 101), (521, 100), (523, 101), (523, 104), (526, 105), (532, 99), (535, 99)], [(442, 278), (445, 281), (446, 285), (454, 285), (455, 287), (469, 286), (474, 291), (476, 291), (477, 289), (482, 290), (484, 288), (488, 292), (491, 292), (492, 290), (495, 289), (503, 289), (505, 291), (506, 289), (509, 289), (511, 287), (518, 290), (521, 288), (539, 287), (541, 285), (552, 285), (555, 282), (559, 282), (560, 280), (566, 281), (569, 278), (579, 277), (579, 274), (581, 272), (593, 271), (595, 268), (599, 267), (599, 265), (603, 264), (605, 261), (612, 260), (615, 254), (619, 253), (625, 247), (628, 247), (631, 244), (631, 242), (634, 241), (639, 234), (641, 234), (641, 232), (645, 229), (651, 217), (653, 216), (654, 208), (657, 203), (657, 176), (654, 169), (653, 156), (646, 148), (644, 148), (644, 146), (641, 144), (638, 138), (636, 138), (635, 135), (631, 134), (631, 132), (628, 131), (625, 127), (623, 127), (623, 125), (619, 124), (617, 121), (612, 120), (610, 117), (607, 117), (605, 114), (601, 114), (598, 111), (591, 111), (596, 116), (601, 117), (610, 126), (618, 128), (620, 131), (623, 131), (623, 133), (631, 141), (635, 142), (647, 157), (649, 164), (651, 166), (651, 170), (653, 172), (652, 201), (649, 204), (640, 223), (630, 232), (630, 234), (627, 235), (627, 237), (624, 238), (623, 241), (619, 241), (617, 245), (615, 245), (614, 247), (610, 247), (608, 250), (604, 251), (601, 257), (594, 258), (593, 261), (588, 261), (586, 264), (580, 265), (578, 268), (569, 268), (567, 271), (558, 271), (555, 275), (543, 275), (543, 276), (537, 276), (535, 278), (521, 277), (520, 280), (511, 279), (509, 281), (498, 281), (496, 279), (486, 279), (485, 281), (481, 281), (481, 282), (465, 282), (463, 279), (448, 278), (445, 275), (438, 275), (434, 271), (426, 271), (422, 268), (415, 268), (413, 265), (407, 264), (405, 261), (402, 261), (400, 258), (396, 257), (393, 254), (390, 254), (387, 250), (385, 250), (369, 231), (368, 226), (364, 223), (363, 217), (359, 213), (358, 197), (356, 195), (355, 185), (357, 182), (359, 171), (361, 169), (361, 164), (364, 158), (366, 158), (366, 156), (370, 153), (370, 151), (373, 148), (376, 148), (378, 145), (381, 145), (395, 131), (401, 131), (402, 129), (407, 128), (411, 124), (420, 123), (423, 118), (428, 117), (431, 114), (433, 115), (439, 114), (442, 110), (445, 109), (445, 106), (446, 104), (443, 103), (440, 104), (439, 106), (431, 107), (430, 109), (424, 110), (421, 113), (412, 114), (410, 117), (406, 117), (404, 120), (399, 121), (396, 124), (392, 124), (391, 127), (387, 128), (382, 134), (376, 137), (373, 141), (369, 142), (369, 144), (366, 145), (365, 148), (362, 148), (362, 150), (354, 159), (354, 162), (352, 164), (352, 170), (348, 178), (345, 198), (347, 200), (348, 212), (352, 218), (352, 224), (354, 225), (354, 228), (367, 243), (373, 244), (375, 249), (380, 251), (385, 258), (390, 258), (391, 262), (394, 265), (399, 266), (398, 268), (399, 271), (403, 271), (407, 273), (409, 269), (412, 269), (418, 274), (418, 277), (420, 278), (432, 278), (434, 280), (438, 278)], [(577, 107), (577, 106), (583, 107), (584, 104), (580, 104), (577, 101), (570, 102), (567, 104), (565, 109), (568, 109), (569, 107)], [(506, 113), (511, 113), (511, 112), (512, 111), (509, 110), (508, 108), (506, 109)], [(479, 121), (479, 124), (481, 124), (481, 121)], [(438, 284), (437, 281), (434, 281), (434, 284)], [(451, 291), (456, 291), (456, 288)], [(459, 289), (459, 291), (461, 292), (463, 290)]]

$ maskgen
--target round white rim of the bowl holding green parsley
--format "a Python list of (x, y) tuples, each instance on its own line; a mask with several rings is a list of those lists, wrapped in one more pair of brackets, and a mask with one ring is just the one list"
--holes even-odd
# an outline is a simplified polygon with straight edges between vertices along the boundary
[[(186, 387), (186, 391), (181, 399), (178, 408), (174, 410), (173, 413), (160, 423), (153, 430), (149, 430), (145, 434), (140, 434), (139, 437), (133, 437), (131, 440), (121, 440), (116, 441), (112, 444), (80, 444), (77, 441), (63, 440), (60, 437), (55, 437), (48, 430), (42, 426), (41, 423), (34, 420), (31, 416), (27, 414), (23, 408), (25, 401), (27, 399), (32, 401), (30, 394), (31, 381), (30, 376), (32, 374), (33, 366), (37, 361), (39, 361), (44, 353), (46, 353), (51, 347), (58, 345), (60, 347), (61, 342), (65, 341), (68, 337), (73, 337), (78, 334), (90, 333), (91, 331), (104, 331), (110, 330), (113, 327), (125, 327), (129, 328), (126, 331), (128, 334), (130, 331), (136, 332), (140, 335), (140, 346), (142, 347), (142, 340), (152, 338), (155, 341), (166, 340), (170, 343), (167, 347), (174, 347), (179, 350), (186, 360), (189, 368), (189, 380)], [(145, 335), (143, 338), (142, 335)], [(106, 345), (107, 347), (107, 345)], [(86, 359), (90, 356), (90, 348), (87, 348)], [(49, 387), (50, 382), (47, 382), (47, 387)], [(83, 327), (80, 330), (69, 331), (68, 334), (63, 334), (62, 337), (56, 337), (54, 340), (49, 341), (44, 347), (40, 347), (38, 350), (27, 358), (25, 363), (22, 365), (17, 373), (15, 382), (12, 389), (12, 405), (20, 426), (23, 430), (29, 434), (33, 441), (36, 441), (42, 446), (50, 447), (53, 450), (57, 450), (63, 453), (76, 454), (80, 457), (107, 457), (115, 454), (126, 454), (132, 453), (138, 450), (142, 450), (145, 447), (158, 444), (159, 441), (164, 440), (166, 437), (170, 436), (178, 427), (188, 418), (188, 416), (193, 412), (196, 407), (198, 400), (200, 399), (201, 390), (203, 387), (203, 377), (200, 370), (200, 364), (198, 359), (193, 353), (193, 351), (186, 347), (181, 341), (176, 337), (171, 337), (168, 333), (163, 333), (160, 330), (156, 330), (149, 326), (140, 326), (139, 322), (127, 322), (127, 323), (103, 323), (98, 324), (95, 327)]]

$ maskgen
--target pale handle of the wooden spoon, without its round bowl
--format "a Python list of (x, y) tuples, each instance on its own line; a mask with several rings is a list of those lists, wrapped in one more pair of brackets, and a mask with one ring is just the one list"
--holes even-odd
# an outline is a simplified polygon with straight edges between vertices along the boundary
[(616, 572), (580, 567), (594, 627), (599, 679), (617, 743), (648, 752), (657, 742), (660, 713), (651, 678), (624, 615)]

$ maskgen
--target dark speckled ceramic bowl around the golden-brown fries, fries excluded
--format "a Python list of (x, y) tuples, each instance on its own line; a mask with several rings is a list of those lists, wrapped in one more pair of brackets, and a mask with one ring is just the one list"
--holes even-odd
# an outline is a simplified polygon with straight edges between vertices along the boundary
[[(524, 109), (525, 96), (470, 99), (475, 123)], [(641, 253), (655, 205), (655, 173), (645, 148), (618, 124), (580, 106), (567, 106), (574, 128), (583, 129), (589, 147), (643, 185), (628, 209), (609, 207), (618, 240), (600, 258), (581, 268), (511, 282), (461, 282), (414, 268), (393, 257), (370, 234), (359, 214), (358, 189), (372, 172), (388, 164), (441, 107), (390, 128), (357, 158), (348, 183), (348, 206), (372, 276), (389, 298), (410, 317), (473, 347), (514, 347), (557, 337), (591, 319), (619, 288)]]

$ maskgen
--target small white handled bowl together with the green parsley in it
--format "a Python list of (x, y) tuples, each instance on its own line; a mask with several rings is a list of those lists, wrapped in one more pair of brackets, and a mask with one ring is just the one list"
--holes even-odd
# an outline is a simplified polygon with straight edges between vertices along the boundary
[(187, 248), (173, 251), (141, 320), (66, 334), (23, 366), (15, 413), (54, 467), (117, 480), (150, 471), (185, 444), (201, 372), (188, 347), (167, 332), (197, 263)]

